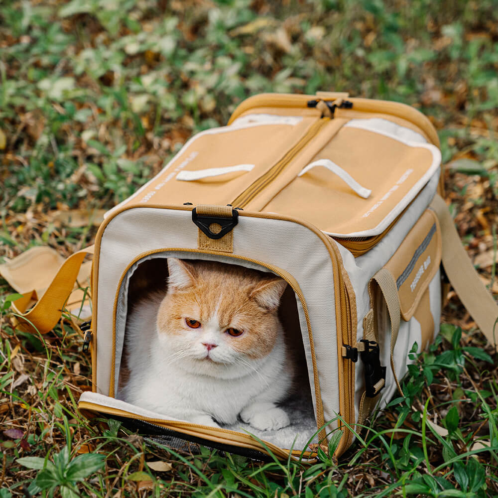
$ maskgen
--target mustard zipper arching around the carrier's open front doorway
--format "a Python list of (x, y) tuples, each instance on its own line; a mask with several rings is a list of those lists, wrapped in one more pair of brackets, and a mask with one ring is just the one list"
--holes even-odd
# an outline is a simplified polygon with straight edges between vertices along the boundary
[[(131, 262), (126, 266), (123, 274), (121, 275), (120, 281), (118, 283), (118, 290), (116, 291), (116, 298), (114, 300), (114, 306), (113, 306), (113, 354), (112, 354), (111, 382), (110, 382), (110, 387), (109, 387), (109, 395), (113, 398), (115, 397), (114, 392), (115, 392), (115, 382), (116, 382), (116, 313), (117, 313), (117, 308), (118, 308), (119, 292), (120, 292), (121, 286), (123, 284), (124, 277), (126, 276), (126, 273), (131, 268), (131, 266), (133, 266), (140, 259), (143, 259), (144, 257), (147, 257), (151, 254), (157, 254), (159, 252), (170, 252), (170, 251), (194, 252), (197, 254), (223, 255), (223, 256), (233, 257), (234, 259), (242, 259), (245, 261), (249, 261), (249, 262), (258, 264), (260, 266), (264, 266), (265, 268), (268, 268), (273, 273), (275, 273), (276, 275), (283, 278), (292, 287), (292, 290), (299, 297), (299, 300), (301, 301), (301, 305), (302, 305), (303, 311), (304, 311), (304, 316), (306, 317), (306, 324), (308, 326), (308, 334), (309, 334), (310, 348), (311, 348), (311, 361), (313, 364), (313, 382), (315, 385), (316, 422), (317, 422), (317, 428), (318, 428), (318, 430), (320, 430), (325, 425), (325, 419), (324, 419), (324, 415), (323, 415), (322, 399), (320, 396), (320, 383), (319, 383), (319, 378), (318, 378), (318, 369), (317, 369), (317, 365), (316, 365), (316, 356), (315, 356), (315, 347), (314, 347), (314, 343), (313, 343), (313, 334), (311, 331), (311, 324), (310, 324), (310, 318), (309, 318), (309, 313), (308, 313), (308, 307), (306, 306), (306, 301), (305, 301), (304, 296), (301, 292), (301, 289), (299, 288), (299, 286), (297, 286), (297, 284), (290, 282), (288, 277), (286, 275), (284, 275), (279, 268), (277, 268), (273, 265), (262, 263), (261, 261), (258, 261), (257, 259), (252, 259), (249, 257), (243, 257), (243, 256), (238, 256), (238, 255), (229, 255), (225, 252), (219, 252), (219, 251), (208, 252), (206, 250), (201, 250), (201, 249), (169, 249), (169, 248), (153, 249), (153, 250), (146, 251), (142, 254), (139, 254), (138, 256), (133, 258), (131, 260)], [(187, 425), (193, 426), (194, 424), (187, 423)], [(202, 426), (199, 426), (199, 427), (202, 427)], [(235, 434), (239, 434), (236, 431), (233, 431), (233, 432)], [(325, 428), (320, 430), (319, 438), (321, 438), (321, 439), (325, 438)]]

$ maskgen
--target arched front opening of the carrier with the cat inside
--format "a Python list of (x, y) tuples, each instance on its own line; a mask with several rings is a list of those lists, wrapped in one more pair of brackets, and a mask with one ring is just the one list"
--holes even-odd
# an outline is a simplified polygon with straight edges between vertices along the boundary
[[(206, 273), (202, 275), (202, 271), (208, 271), (206, 268), (221, 268), (224, 274), (212, 282), (212, 288), (208, 280), (201, 290), (189, 290), (189, 271), (193, 278), (197, 271), (197, 277), (206, 280)], [(254, 282), (254, 278), (260, 281)], [(161, 304), (168, 285), (169, 293), (177, 296), (172, 302)], [(248, 286), (256, 289), (248, 291)], [(238, 295), (244, 292), (255, 293), (251, 303)], [(189, 311), (183, 313), (180, 305), (187, 306)], [(210, 306), (211, 311), (216, 311), (218, 323), (213, 313), (203, 311)], [(117, 295), (110, 392), (110, 397), (116, 399), (112, 403), (126, 405), (126, 411), (136, 411), (137, 415), (146, 412), (148, 418), (155, 415), (178, 423), (217, 425), (224, 430), (253, 434), (280, 448), (307, 449), (309, 443), (316, 444), (319, 438), (305, 307), (302, 296), (296, 295), (291, 285), (256, 262), (195, 251), (148, 253), (127, 268)], [(206, 319), (207, 323), (203, 323)], [(257, 330), (258, 320), (263, 324), (262, 330)], [(161, 321), (168, 322), (164, 330)], [(151, 350), (148, 342), (152, 340), (153, 326), (157, 327), (155, 333), (166, 337), (155, 342)], [(272, 327), (280, 328), (280, 332)], [(196, 342), (196, 334), (203, 339)], [(251, 340), (250, 334), (259, 335)], [(274, 336), (274, 344), (267, 336)], [(159, 365), (161, 359), (175, 365), (163, 368)], [(219, 368), (224, 362), (227, 368)], [(226, 392), (217, 398), (216, 389), (221, 384)], [(280, 384), (283, 387), (279, 388)], [(179, 410), (182, 395), (184, 409)], [(202, 401), (192, 399), (195, 396)], [(210, 400), (216, 406), (210, 408)], [(220, 406), (225, 404), (226, 407)], [(206, 418), (203, 424), (197, 411), (207, 412), (212, 423)]]

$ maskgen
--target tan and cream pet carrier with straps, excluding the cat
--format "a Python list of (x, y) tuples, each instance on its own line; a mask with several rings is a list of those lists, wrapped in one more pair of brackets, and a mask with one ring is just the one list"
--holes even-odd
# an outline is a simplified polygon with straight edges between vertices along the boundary
[[(193, 136), (109, 211), (95, 247), (62, 265), (21, 325), (49, 331), (93, 253), (93, 391), (82, 394), (80, 409), (173, 448), (203, 444), (255, 458), (271, 451), (312, 459), (341, 431), (339, 456), (357, 424), (392, 396), (413, 345), (421, 351), (438, 333), (441, 262), (494, 342), (497, 305), (460, 244), (440, 179), (436, 131), (406, 105), (328, 92), (251, 97), (227, 126)], [(116, 398), (127, 309), (144, 277), (151, 286), (164, 281), (172, 256), (287, 281), (282, 315), (291, 318), (287, 340), (303, 365), (299, 391), (283, 404), (289, 427), (195, 425)], [(20, 312), (30, 297), (16, 303)]]

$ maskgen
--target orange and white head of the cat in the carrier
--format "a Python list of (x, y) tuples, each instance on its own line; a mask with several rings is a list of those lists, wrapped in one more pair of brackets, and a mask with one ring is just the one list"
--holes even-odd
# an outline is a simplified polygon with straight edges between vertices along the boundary
[(254, 370), (281, 334), (286, 282), (237, 265), (168, 258), (168, 291), (157, 315), (169, 361), (207, 375)]

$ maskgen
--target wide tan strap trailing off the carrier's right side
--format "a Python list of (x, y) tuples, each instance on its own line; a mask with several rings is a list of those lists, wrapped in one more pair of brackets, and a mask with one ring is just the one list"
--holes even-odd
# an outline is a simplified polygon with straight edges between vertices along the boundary
[(497, 349), (498, 304), (483, 285), (455, 228), (448, 206), (438, 194), (430, 208), (437, 214), (443, 240), (443, 267), (451, 285), (463, 305), (488, 339)]

